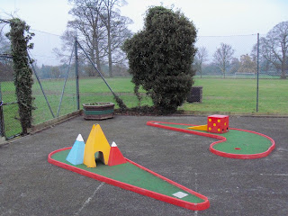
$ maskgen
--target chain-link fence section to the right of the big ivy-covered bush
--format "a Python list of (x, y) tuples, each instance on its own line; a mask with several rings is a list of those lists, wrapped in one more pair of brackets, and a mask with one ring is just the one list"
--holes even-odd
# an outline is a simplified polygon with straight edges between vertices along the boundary
[(264, 38), (260, 35), (258, 40), (257, 34), (198, 37), (194, 85), (203, 87), (202, 103), (185, 103), (183, 109), (287, 114), (287, 81), (282, 77), (287, 67), (281, 71), (280, 60), (271, 58)]

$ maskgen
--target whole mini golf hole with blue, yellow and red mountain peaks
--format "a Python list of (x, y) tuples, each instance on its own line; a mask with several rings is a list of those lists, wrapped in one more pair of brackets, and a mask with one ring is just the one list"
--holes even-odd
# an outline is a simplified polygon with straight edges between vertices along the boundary
[(123, 157), (116, 143), (112, 142), (110, 146), (99, 124), (93, 125), (86, 143), (79, 134), (73, 147), (51, 152), (48, 161), (80, 175), (186, 209), (205, 210), (210, 206), (202, 194)]

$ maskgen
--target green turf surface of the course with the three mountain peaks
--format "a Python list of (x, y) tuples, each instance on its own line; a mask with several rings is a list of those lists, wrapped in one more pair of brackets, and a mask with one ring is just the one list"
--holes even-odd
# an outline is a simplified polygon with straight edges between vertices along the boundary
[[(70, 149), (59, 151), (56, 154), (52, 155), (52, 158), (65, 163), (70, 166), (75, 166), (67, 162), (66, 157)], [(173, 196), (173, 193), (183, 192), (188, 195), (180, 199), (186, 202), (201, 203), (204, 202), (201, 198), (188, 193), (181, 188), (176, 187), (173, 184), (169, 184), (161, 178), (148, 173), (147, 171), (140, 169), (138, 166), (134, 166), (129, 162), (117, 166), (106, 166), (101, 162), (97, 162), (97, 166), (94, 168), (88, 168), (85, 165), (77, 165), (76, 167), (84, 169), (86, 171), (92, 172), (97, 175), (103, 175), (108, 178), (120, 181), (126, 184), (132, 184), (134, 186), (147, 189), (156, 193), (165, 194), (167, 196)], [(179, 199), (179, 198), (177, 198)]]

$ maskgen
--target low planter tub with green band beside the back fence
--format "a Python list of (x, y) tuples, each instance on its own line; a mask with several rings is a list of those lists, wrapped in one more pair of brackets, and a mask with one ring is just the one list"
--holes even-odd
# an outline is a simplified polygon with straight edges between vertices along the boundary
[(86, 120), (104, 120), (114, 116), (114, 103), (83, 103), (84, 118)]

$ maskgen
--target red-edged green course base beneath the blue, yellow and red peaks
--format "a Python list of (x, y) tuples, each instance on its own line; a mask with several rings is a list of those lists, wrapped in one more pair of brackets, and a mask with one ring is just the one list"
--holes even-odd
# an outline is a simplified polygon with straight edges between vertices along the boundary
[(117, 166), (105, 166), (99, 161), (95, 168), (89, 168), (84, 164), (75, 166), (66, 160), (70, 149), (71, 147), (51, 152), (49, 163), (186, 209), (200, 211), (210, 206), (207, 197), (202, 194), (176, 184), (127, 158), (125, 158), (127, 163)]

